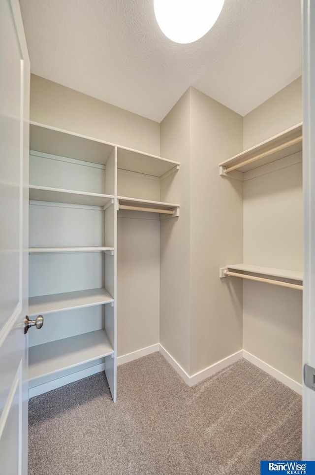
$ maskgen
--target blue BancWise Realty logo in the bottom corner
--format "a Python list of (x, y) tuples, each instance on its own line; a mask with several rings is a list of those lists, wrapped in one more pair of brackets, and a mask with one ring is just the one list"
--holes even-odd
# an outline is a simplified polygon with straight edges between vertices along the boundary
[(293, 460), (262, 460), (260, 462), (260, 475), (285, 474), (285, 475), (315, 475), (315, 461)]

